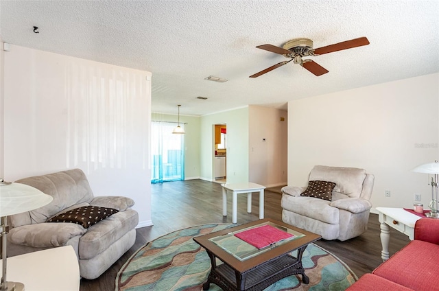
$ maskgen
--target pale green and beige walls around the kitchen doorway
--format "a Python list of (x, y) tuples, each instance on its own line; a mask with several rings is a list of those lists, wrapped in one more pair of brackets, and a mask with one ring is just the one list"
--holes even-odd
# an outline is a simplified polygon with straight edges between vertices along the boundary
[(202, 116), (201, 178), (207, 181), (214, 181), (215, 124), (227, 126), (227, 183), (250, 181), (273, 187), (287, 182), (285, 110), (248, 106)]

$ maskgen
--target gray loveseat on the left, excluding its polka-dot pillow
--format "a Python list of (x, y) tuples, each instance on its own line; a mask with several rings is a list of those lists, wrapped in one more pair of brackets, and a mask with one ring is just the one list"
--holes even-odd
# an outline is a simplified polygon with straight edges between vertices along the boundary
[[(54, 200), (44, 207), (9, 217), (10, 256), (71, 245), (78, 256), (81, 277), (95, 279), (136, 240), (134, 228), (139, 223), (139, 215), (130, 208), (134, 201), (122, 196), (94, 197), (82, 170), (23, 178), (16, 183), (35, 187)], [(110, 207), (118, 212), (88, 228), (71, 222), (47, 222), (59, 213), (89, 205)]]

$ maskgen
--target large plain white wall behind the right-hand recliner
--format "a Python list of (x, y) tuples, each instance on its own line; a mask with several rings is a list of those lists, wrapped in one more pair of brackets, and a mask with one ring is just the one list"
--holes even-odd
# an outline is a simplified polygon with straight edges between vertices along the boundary
[(361, 167), (375, 174), (374, 208), (411, 208), (414, 193), (427, 208), (428, 175), (411, 170), (439, 159), (438, 84), (434, 73), (289, 102), (288, 185), (306, 185), (313, 165)]

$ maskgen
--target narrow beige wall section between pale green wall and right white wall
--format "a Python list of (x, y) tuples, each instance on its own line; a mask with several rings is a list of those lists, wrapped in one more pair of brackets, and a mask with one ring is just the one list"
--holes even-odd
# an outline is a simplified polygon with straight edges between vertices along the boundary
[(249, 120), (249, 181), (265, 187), (286, 185), (287, 111), (252, 105)]

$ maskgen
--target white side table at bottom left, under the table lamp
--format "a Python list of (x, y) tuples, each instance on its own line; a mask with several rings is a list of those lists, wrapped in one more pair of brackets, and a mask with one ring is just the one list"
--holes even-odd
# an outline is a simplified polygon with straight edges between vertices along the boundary
[(80, 279), (72, 246), (8, 257), (6, 281), (23, 283), (25, 291), (79, 291)]

